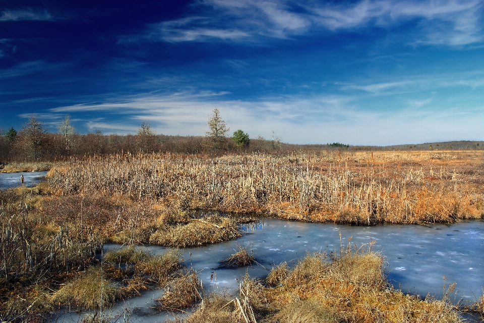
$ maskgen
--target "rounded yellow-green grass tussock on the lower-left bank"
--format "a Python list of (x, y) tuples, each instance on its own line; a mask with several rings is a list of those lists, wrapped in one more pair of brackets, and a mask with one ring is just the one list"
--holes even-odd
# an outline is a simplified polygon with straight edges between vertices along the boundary
[(60, 305), (102, 308), (113, 304), (123, 295), (100, 268), (91, 267), (84, 275), (73, 279), (54, 293), (52, 301)]

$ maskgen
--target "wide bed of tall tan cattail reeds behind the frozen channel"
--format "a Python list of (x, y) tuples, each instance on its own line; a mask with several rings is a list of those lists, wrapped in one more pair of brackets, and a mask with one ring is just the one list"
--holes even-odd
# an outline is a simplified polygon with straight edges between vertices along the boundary
[(482, 218), (482, 151), (170, 153), (71, 159), (49, 172), (62, 194), (111, 192), (180, 209), (374, 225)]

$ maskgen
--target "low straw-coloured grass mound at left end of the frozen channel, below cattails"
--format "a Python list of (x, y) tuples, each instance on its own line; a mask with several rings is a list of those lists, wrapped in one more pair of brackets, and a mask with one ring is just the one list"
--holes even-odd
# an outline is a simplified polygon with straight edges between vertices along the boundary
[(150, 243), (171, 247), (193, 247), (240, 237), (237, 223), (228, 218), (194, 219), (189, 224), (179, 224), (160, 229), (150, 237)]

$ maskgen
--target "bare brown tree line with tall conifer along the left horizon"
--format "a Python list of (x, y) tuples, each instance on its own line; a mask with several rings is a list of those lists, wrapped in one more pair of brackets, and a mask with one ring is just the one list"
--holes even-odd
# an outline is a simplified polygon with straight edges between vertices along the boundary
[(277, 137), (266, 140), (252, 139), (238, 129), (231, 137), (229, 128), (221, 118), (218, 108), (213, 109), (207, 122), (205, 136), (170, 136), (156, 134), (149, 122), (144, 121), (138, 133), (105, 135), (100, 130), (87, 134), (78, 133), (66, 116), (57, 131), (48, 131), (35, 115), (28, 118), (22, 129), (10, 128), (0, 136), (0, 161), (55, 160), (68, 156), (109, 154), (117, 152), (174, 152), (174, 153), (225, 153), (238, 151), (274, 151), (289, 146)]

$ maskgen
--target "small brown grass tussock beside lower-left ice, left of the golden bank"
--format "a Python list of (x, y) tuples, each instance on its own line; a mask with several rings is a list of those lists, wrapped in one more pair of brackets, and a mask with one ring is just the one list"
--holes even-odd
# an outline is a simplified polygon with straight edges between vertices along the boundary
[(165, 288), (163, 295), (156, 301), (161, 310), (181, 310), (194, 305), (202, 299), (201, 284), (195, 272), (183, 273)]

